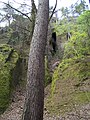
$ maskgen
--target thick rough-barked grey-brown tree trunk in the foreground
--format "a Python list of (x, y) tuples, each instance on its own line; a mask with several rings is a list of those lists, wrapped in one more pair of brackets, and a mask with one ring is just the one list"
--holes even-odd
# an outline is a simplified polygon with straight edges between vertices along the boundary
[(23, 120), (43, 120), (44, 55), (48, 31), (49, 0), (39, 0), (31, 42)]

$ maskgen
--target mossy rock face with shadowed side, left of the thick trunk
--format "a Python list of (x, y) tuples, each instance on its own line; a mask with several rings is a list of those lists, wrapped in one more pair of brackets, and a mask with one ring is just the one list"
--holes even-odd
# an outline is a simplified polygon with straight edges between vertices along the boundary
[(11, 91), (19, 82), (19, 63), (19, 55), (12, 47), (0, 45), (0, 114), (8, 107)]

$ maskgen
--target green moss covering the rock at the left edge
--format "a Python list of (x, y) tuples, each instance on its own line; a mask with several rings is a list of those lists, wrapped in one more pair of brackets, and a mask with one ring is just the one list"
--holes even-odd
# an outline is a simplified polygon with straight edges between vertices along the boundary
[(13, 71), (19, 58), (17, 52), (13, 50), (10, 59), (5, 62), (12, 49), (8, 45), (0, 45), (0, 113), (9, 105), (10, 84), (12, 81), (11, 71)]

